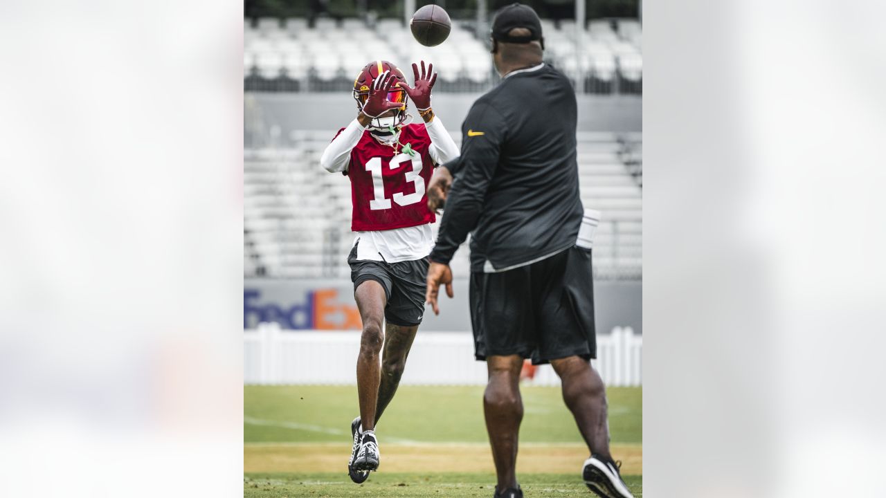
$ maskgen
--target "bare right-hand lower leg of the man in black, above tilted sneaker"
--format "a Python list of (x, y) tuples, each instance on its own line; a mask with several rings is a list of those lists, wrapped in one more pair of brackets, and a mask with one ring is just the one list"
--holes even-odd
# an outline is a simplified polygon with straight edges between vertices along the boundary
[(563, 385), (563, 401), (575, 417), (579, 432), (592, 455), (611, 459), (606, 388), (591, 363), (579, 356), (552, 360)]

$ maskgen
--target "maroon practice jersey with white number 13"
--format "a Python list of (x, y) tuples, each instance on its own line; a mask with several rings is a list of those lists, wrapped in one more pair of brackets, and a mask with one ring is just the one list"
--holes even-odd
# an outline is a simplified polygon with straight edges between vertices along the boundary
[[(402, 229), (436, 220), (426, 194), (434, 167), (428, 153), (431, 137), (424, 125), (409, 124), (400, 130), (398, 141), (403, 146), (395, 154), (392, 146), (379, 143), (367, 130), (351, 151), (351, 230)], [(415, 155), (403, 152), (406, 144)]]

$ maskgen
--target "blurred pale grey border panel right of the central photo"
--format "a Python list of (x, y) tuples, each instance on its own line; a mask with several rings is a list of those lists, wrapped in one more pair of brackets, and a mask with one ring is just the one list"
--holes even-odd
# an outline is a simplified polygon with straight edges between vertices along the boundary
[(644, 492), (875, 494), (886, 5), (643, 7)]

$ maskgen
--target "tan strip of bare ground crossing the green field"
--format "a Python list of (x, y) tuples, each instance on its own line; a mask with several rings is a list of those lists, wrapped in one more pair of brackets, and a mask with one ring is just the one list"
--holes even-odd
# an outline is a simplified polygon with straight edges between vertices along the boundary
[[(494, 472), (492, 453), (484, 445), (402, 446), (381, 448), (379, 471), (391, 472)], [(643, 473), (641, 445), (612, 445), (612, 455), (622, 461), (625, 475)], [(350, 445), (248, 445), (244, 447), (245, 472), (346, 471)], [(525, 445), (520, 447), (517, 471), (571, 473), (581, 468), (587, 448)]]

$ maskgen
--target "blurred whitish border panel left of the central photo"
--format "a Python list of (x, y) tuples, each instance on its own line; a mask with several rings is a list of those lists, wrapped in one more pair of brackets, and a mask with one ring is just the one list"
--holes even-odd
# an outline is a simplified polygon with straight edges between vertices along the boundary
[(0, 6), (4, 495), (242, 495), (242, 29)]

